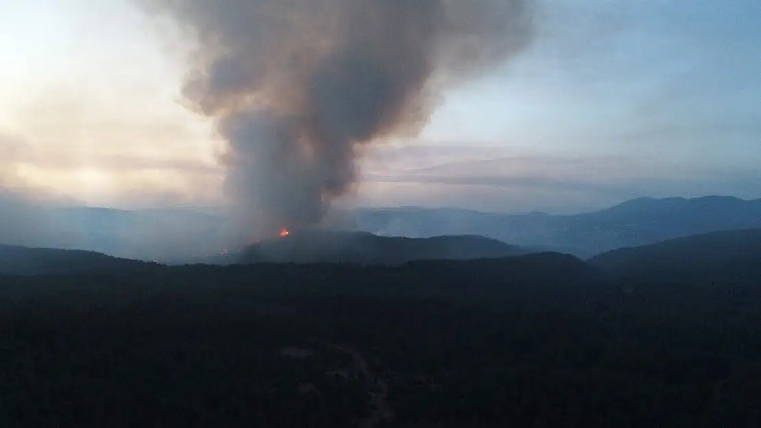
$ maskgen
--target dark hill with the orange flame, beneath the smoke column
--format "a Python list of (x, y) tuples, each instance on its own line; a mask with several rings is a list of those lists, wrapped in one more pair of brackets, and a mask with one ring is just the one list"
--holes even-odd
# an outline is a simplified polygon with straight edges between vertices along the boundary
[(412, 260), (500, 258), (528, 252), (483, 236), (425, 239), (377, 236), (365, 232), (301, 231), (245, 249), (237, 262), (342, 262), (398, 265)]

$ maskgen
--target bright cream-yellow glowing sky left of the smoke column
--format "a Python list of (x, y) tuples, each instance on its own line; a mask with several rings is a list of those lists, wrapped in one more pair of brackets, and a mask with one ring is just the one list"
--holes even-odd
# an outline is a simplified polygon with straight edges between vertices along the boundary
[(6, 180), (92, 204), (215, 198), (218, 143), (180, 105), (183, 52), (157, 24), (126, 2), (0, 5)]

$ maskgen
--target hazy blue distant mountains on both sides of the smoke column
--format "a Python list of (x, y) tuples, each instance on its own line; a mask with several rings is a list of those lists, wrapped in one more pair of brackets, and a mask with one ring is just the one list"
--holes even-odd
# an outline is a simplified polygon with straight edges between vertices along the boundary
[[(170, 263), (196, 260), (228, 249), (224, 246), (224, 230), (229, 220), (218, 212), (75, 207), (51, 208), (44, 214), (30, 222), (28, 231), (0, 234), (0, 243), (88, 249)], [(612, 249), (682, 236), (761, 227), (761, 199), (638, 198), (574, 215), (414, 207), (360, 208), (339, 214), (332, 224), (328, 222), (333, 230), (412, 238), (486, 236), (511, 246), (589, 258)]]

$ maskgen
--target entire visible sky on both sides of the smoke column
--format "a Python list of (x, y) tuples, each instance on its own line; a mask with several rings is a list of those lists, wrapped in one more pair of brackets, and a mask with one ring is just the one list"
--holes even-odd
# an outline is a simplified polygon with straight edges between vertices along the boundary
[[(578, 212), (761, 198), (761, 2), (539, 0), (514, 61), (361, 159), (346, 204)], [(128, 0), (0, 0), (0, 185), (119, 208), (221, 204), (183, 106), (193, 40)]]

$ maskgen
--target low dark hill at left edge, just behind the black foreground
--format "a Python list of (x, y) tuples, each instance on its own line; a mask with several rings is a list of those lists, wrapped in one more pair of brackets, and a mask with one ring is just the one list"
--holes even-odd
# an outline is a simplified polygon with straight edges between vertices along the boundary
[(118, 273), (149, 265), (99, 252), (0, 245), (0, 274)]

